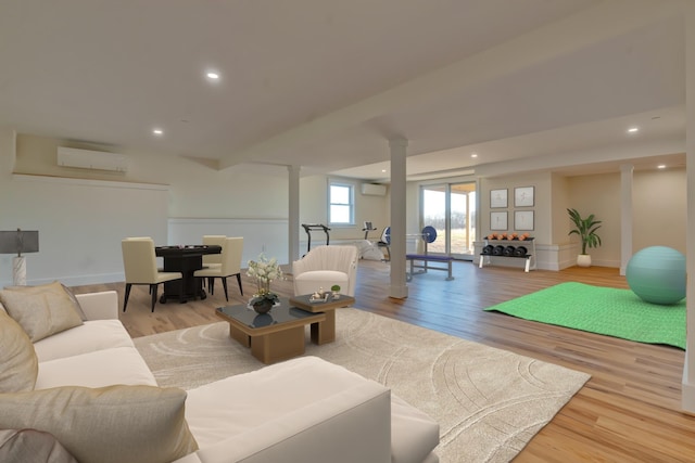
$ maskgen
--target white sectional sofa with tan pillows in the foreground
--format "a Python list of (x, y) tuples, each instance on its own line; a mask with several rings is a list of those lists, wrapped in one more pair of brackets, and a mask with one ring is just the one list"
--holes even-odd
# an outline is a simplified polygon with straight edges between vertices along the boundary
[[(22, 410), (14, 408), (23, 403), (31, 403), (31, 407), (43, 403), (41, 393), (53, 394), (68, 388), (70, 398), (65, 400), (87, 394), (89, 400), (97, 403), (94, 407), (101, 407), (102, 401), (112, 400), (111, 394), (116, 394), (113, 385), (127, 385), (121, 387), (117, 394), (124, 390), (128, 393), (128, 388), (165, 396), (178, 394), (176, 397), (181, 398), (181, 410), (173, 410), (172, 415), (163, 421), (166, 426), (172, 427), (170, 430), (155, 428), (156, 425), (152, 424), (154, 421), (140, 423), (150, 420), (146, 411), (142, 411), (146, 413), (144, 419), (130, 417), (127, 423), (103, 424), (104, 415), (99, 416), (100, 426), (111, 425), (116, 429), (101, 430), (99, 434), (99, 438), (104, 439), (104, 449), (112, 448), (105, 443), (109, 436), (103, 436), (104, 434), (113, 433), (115, 439), (121, 432), (137, 434), (138, 425), (147, 424), (149, 427), (140, 434), (151, 433), (152, 440), (166, 441), (172, 433), (188, 436), (190, 430), (194, 438), (193, 447), (187, 447), (190, 452), (178, 448), (179, 458), (175, 460), (178, 463), (439, 461), (434, 453), (439, 443), (437, 423), (392, 396), (382, 385), (319, 358), (304, 357), (264, 366), (186, 393), (178, 389), (165, 390), (175, 388), (157, 388), (152, 372), (117, 319), (116, 293), (85, 294), (78, 295), (77, 299), (87, 320), (78, 326), (34, 343), (38, 358), (35, 388), (33, 391), (0, 394), (0, 428), (17, 425), (17, 422), (5, 416), (12, 413), (22, 415)], [(97, 389), (72, 389), (72, 386)], [(92, 394), (94, 390), (98, 391), (97, 395)], [(63, 396), (60, 397), (60, 400), (64, 399)], [(160, 396), (156, 397), (159, 400)], [(51, 400), (55, 400), (55, 394), (51, 396)], [(143, 401), (138, 407), (138, 399), (132, 402), (136, 409), (147, 409), (149, 404)], [(113, 401), (106, 406), (113, 407)], [(160, 408), (154, 409), (156, 412)], [(73, 416), (71, 413), (74, 413), (73, 420), (79, 421), (80, 413), (86, 413), (86, 410), (88, 409), (65, 407), (68, 412), (66, 415), (50, 417), (68, 422), (70, 416)], [(105, 421), (115, 421), (121, 416), (118, 413), (118, 410), (109, 411)], [(140, 411), (129, 410), (128, 413), (137, 415)], [(40, 429), (47, 423), (46, 419), (41, 420), (39, 423), (28, 424), (36, 424), (35, 428)], [(179, 423), (174, 423), (177, 420)], [(27, 423), (22, 420), (18, 424), (31, 427), (26, 426)], [(64, 425), (70, 427), (73, 424)], [(86, 426), (88, 428), (89, 425)], [(54, 429), (49, 427), (40, 430)], [(64, 432), (61, 428), (61, 433)], [(63, 441), (71, 440), (72, 437), (61, 439), (61, 436), (66, 436), (61, 433), (53, 435), (68, 451), (76, 454), (74, 448), (80, 443)], [(85, 433), (89, 434), (89, 428)], [(165, 436), (166, 433), (169, 436)], [(80, 438), (91, 442), (87, 437)], [(146, 436), (144, 441), (147, 440)], [(170, 445), (176, 446), (177, 440), (180, 443), (186, 438), (174, 436)], [(134, 454), (141, 454), (142, 461), (150, 460), (149, 463), (154, 463), (151, 461), (154, 456), (144, 456), (150, 450), (139, 453), (135, 448), (128, 447), (128, 442), (116, 443), (113, 446), (115, 450), (104, 450), (116, 454), (104, 454), (103, 461), (125, 461), (123, 459), (126, 456), (128, 461), (134, 461)], [(155, 441), (150, 443), (157, 446)], [(132, 445), (135, 446), (136, 443)], [(119, 454), (118, 452), (125, 452), (124, 449), (131, 453)], [(187, 454), (180, 456), (181, 451)]]

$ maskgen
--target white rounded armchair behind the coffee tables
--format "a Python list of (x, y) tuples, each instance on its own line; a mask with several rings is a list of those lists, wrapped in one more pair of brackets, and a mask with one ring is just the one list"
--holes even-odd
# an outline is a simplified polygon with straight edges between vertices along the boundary
[(334, 284), (340, 293), (355, 295), (357, 248), (355, 246), (318, 246), (292, 262), (294, 295), (312, 294), (319, 287), (330, 291)]

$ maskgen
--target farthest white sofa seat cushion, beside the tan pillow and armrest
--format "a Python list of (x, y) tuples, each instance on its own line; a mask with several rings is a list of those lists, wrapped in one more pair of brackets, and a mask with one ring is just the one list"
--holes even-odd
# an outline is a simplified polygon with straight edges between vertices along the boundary
[(88, 320), (34, 343), (39, 362), (112, 347), (134, 347), (130, 335), (118, 320)]

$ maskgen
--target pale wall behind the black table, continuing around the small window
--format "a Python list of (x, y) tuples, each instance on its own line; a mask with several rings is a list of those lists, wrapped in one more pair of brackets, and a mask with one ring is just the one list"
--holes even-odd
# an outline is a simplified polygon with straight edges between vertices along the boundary
[[(244, 261), (261, 252), (288, 256), (288, 170), (240, 165), (223, 171), (207, 159), (121, 152), (125, 173), (59, 167), (59, 139), (0, 130), (0, 230), (39, 230), (39, 253), (27, 255), (29, 284), (123, 281), (121, 240), (152, 236), (156, 244), (195, 244), (203, 234), (244, 236)], [(16, 154), (16, 163), (15, 163)], [(326, 222), (327, 178), (300, 181), (306, 221)], [(333, 237), (364, 237), (364, 220), (387, 216), (387, 197), (356, 189), (357, 224)], [(304, 231), (301, 231), (304, 234)], [(0, 255), (0, 285), (12, 281), (12, 256)]]

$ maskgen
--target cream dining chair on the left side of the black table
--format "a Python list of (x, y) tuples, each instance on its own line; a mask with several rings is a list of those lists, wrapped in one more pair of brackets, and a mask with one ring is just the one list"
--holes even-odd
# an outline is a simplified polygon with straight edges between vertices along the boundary
[(181, 280), (184, 278), (182, 273), (157, 270), (154, 241), (151, 237), (127, 237), (121, 242), (121, 249), (126, 274), (126, 294), (123, 301), (123, 311), (125, 312), (128, 307), (130, 288), (134, 284), (147, 284), (150, 286), (152, 311), (154, 311), (160, 283)]

